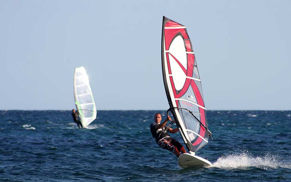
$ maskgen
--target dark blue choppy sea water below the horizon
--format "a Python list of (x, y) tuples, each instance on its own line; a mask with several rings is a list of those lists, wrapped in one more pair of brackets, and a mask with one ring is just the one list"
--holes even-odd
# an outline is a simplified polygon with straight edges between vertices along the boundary
[(186, 170), (151, 136), (156, 112), (99, 111), (78, 129), (71, 111), (0, 111), (0, 181), (291, 181), (291, 111), (207, 111), (196, 154), (213, 167)]

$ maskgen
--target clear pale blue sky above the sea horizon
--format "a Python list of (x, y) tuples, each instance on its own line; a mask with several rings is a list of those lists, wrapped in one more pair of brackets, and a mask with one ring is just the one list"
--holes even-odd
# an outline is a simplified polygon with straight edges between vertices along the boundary
[(206, 110), (291, 110), (291, 1), (0, 0), (0, 110), (167, 110), (162, 18), (187, 27)]

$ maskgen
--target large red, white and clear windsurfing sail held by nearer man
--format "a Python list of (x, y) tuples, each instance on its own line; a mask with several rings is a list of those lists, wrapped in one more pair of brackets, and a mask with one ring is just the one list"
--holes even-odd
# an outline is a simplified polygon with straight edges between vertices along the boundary
[(162, 26), (162, 71), (176, 124), (188, 150), (196, 152), (209, 138), (201, 80), (186, 27), (166, 17)]

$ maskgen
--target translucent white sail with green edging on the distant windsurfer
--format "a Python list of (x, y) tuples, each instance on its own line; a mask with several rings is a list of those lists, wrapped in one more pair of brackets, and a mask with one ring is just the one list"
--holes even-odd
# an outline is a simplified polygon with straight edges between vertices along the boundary
[(81, 123), (83, 127), (86, 127), (96, 119), (97, 111), (84, 67), (75, 68), (74, 96)]

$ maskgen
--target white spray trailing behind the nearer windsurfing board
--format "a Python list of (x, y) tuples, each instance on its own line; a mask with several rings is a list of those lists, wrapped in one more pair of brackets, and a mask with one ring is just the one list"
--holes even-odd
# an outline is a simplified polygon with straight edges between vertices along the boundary
[(244, 169), (248, 167), (276, 169), (278, 167), (284, 167), (291, 169), (291, 163), (290, 160), (288, 162), (284, 159), (280, 159), (280, 157), (275, 155), (267, 154), (263, 157), (253, 157), (248, 153), (241, 153), (219, 157), (217, 161), (213, 163), (212, 167), (218, 167), (222, 169)]

